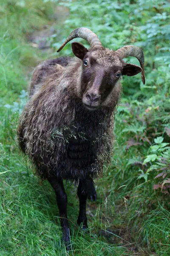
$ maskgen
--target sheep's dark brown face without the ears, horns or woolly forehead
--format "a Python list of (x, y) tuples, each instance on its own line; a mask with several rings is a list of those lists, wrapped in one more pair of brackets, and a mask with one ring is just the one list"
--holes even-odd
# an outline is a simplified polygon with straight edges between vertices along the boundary
[(88, 52), (82, 61), (81, 93), (84, 106), (95, 110), (105, 102), (122, 77), (122, 65), (109, 67)]

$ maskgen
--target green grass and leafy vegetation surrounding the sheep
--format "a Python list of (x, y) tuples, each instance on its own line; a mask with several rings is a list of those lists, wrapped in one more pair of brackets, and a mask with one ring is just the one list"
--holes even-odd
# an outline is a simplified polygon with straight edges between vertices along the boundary
[[(169, 24), (168, 0), (0, 1), (0, 256), (170, 255)], [(140, 74), (123, 79), (115, 153), (95, 180), (97, 201), (87, 205), (91, 237), (77, 227), (76, 188), (66, 184), (68, 253), (54, 192), (37, 182), (16, 128), (33, 68), (59, 56), (57, 48), (79, 26), (110, 49), (142, 47), (146, 84)], [(71, 45), (60, 54), (72, 56)]]

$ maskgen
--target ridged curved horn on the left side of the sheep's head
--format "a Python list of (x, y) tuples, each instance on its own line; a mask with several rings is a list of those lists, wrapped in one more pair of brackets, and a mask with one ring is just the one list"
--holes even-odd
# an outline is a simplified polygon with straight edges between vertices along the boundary
[(71, 34), (68, 36), (68, 38), (65, 40), (64, 44), (58, 49), (57, 52), (60, 52), (62, 48), (67, 44), (69, 41), (71, 41), (74, 38), (83, 38), (90, 44), (91, 48), (102, 48), (102, 43), (100, 42), (97, 35), (92, 32), (90, 29), (86, 28), (77, 28), (74, 29)]

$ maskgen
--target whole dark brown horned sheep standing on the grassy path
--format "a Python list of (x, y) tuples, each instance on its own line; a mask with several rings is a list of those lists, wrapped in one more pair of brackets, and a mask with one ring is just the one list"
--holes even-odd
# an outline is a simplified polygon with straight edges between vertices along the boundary
[[(71, 47), (77, 58), (45, 61), (34, 70), (30, 99), (17, 130), (20, 148), (56, 193), (66, 244), (70, 236), (63, 179), (79, 183), (77, 223), (86, 230), (86, 200), (96, 200), (93, 176), (102, 172), (112, 156), (120, 80), (142, 72), (145, 83), (142, 49), (125, 46), (113, 51), (102, 47), (90, 29), (77, 28), (57, 52), (77, 37), (87, 40), (91, 48), (74, 42)], [(141, 67), (125, 63), (127, 56), (136, 57)]]

